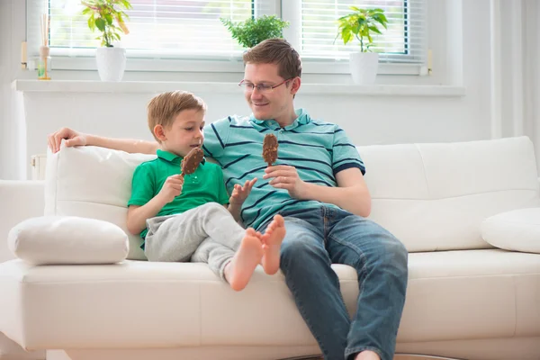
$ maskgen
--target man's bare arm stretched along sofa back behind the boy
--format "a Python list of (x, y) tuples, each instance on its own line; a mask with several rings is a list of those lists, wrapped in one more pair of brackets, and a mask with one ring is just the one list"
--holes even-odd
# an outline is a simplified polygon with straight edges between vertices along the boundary
[(85, 134), (69, 128), (62, 128), (48, 137), (49, 148), (53, 153), (58, 152), (62, 139), (66, 139), (67, 147), (74, 146), (97, 146), (112, 148), (129, 153), (156, 154), (159, 144), (157, 141), (145, 141), (137, 139), (112, 139), (96, 135)]

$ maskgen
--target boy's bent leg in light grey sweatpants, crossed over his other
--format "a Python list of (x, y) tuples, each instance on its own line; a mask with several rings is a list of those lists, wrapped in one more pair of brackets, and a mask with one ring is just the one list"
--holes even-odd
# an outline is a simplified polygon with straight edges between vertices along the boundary
[(245, 230), (229, 211), (209, 202), (179, 215), (147, 220), (145, 254), (150, 261), (188, 261), (205, 238), (236, 249)]

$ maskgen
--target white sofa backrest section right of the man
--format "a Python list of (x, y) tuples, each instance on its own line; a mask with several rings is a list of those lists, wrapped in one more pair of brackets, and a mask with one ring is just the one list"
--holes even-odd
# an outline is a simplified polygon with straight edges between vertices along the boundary
[(540, 206), (527, 137), (358, 147), (373, 198), (370, 219), (410, 252), (491, 247), (482, 220)]

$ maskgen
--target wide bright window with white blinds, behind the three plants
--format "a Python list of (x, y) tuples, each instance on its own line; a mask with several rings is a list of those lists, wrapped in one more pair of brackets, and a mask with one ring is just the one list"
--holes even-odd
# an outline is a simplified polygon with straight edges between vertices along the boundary
[[(233, 59), (238, 63), (243, 49), (231, 39), (220, 17), (239, 22), (259, 14), (278, 14), (291, 23), (284, 37), (299, 50), (305, 64), (313, 63), (315, 66), (311, 68), (321, 69), (324, 67), (320, 67), (321, 64), (336, 65), (338, 61), (339, 67), (347, 64), (343, 60), (347, 60), (348, 53), (355, 51), (358, 45), (344, 46), (341, 39), (336, 39), (338, 17), (347, 14), (350, 5), (379, 7), (385, 10), (389, 26), (387, 31), (382, 29), (383, 35), (374, 37), (373, 49), (380, 52), (383, 63), (416, 66), (414, 71), (401, 72), (400, 69), (391, 73), (418, 74), (427, 53), (425, 1), (131, 0), (133, 9), (128, 12), (130, 21), (127, 23), (130, 34), (122, 36), (121, 46), (128, 50), (129, 58), (219, 59), (221, 62)], [(49, 46), (53, 58), (92, 57), (98, 45), (97, 34), (88, 30), (81, 10), (80, 0), (27, 0), (31, 55), (36, 56), (40, 46), (40, 14), (49, 14)], [(83, 60), (80, 61), (82, 64)]]

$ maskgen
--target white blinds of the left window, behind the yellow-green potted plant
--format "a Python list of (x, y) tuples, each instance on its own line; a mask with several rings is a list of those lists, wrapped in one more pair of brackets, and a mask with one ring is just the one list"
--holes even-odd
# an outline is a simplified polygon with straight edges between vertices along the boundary
[[(121, 36), (128, 55), (149, 58), (230, 57), (241, 54), (220, 17), (244, 21), (255, 13), (255, 0), (130, 0), (130, 34)], [(100, 46), (97, 32), (80, 14), (80, 0), (28, 0), (29, 46), (37, 49), (40, 14), (49, 14), (53, 53), (82, 54)], [(37, 26), (35, 26), (37, 25)], [(34, 28), (35, 26), (35, 28)], [(36, 34), (37, 39), (35, 38)], [(64, 51), (62, 51), (64, 50)]]

